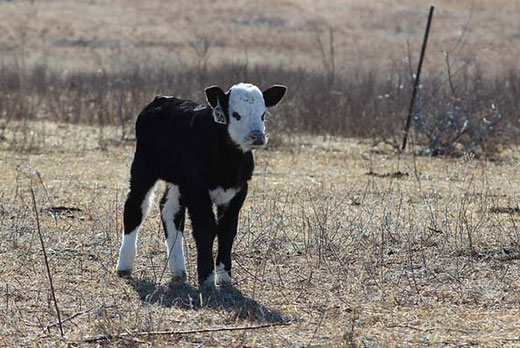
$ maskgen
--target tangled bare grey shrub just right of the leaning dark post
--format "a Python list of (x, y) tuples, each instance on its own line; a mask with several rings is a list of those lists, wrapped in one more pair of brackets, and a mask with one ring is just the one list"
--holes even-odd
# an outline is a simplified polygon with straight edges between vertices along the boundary
[(507, 101), (503, 84), (486, 78), (478, 66), (455, 78), (448, 63), (447, 86), (440, 80), (430, 82), (434, 88), (422, 97), (415, 114), (416, 143), (422, 154), (494, 153), (507, 135), (517, 132), (513, 113), (502, 111), (514, 102)]

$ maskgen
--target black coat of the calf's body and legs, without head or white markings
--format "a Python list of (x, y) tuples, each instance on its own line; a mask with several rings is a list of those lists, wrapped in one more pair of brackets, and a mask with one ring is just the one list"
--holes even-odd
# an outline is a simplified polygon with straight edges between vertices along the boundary
[[(158, 96), (144, 108), (137, 118), (136, 138), (124, 211), (125, 232), (140, 225), (142, 201), (157, 180), (177, 185), (181, 209), (175, 226), (184, 229), (187, 208), (198, 252), (199, 282), (214, 270), (216, 236), (217, 264), (222, 262), (230, 274), (238, 215), (254, 169), (251, 151), (243, 152), (232, 142), (226, 125), (214, 122), (210, 107), (173, 97)], [(219, 187), (239, 191), (227, 204), (217, 207), (216, 219), (209, 191)]]

